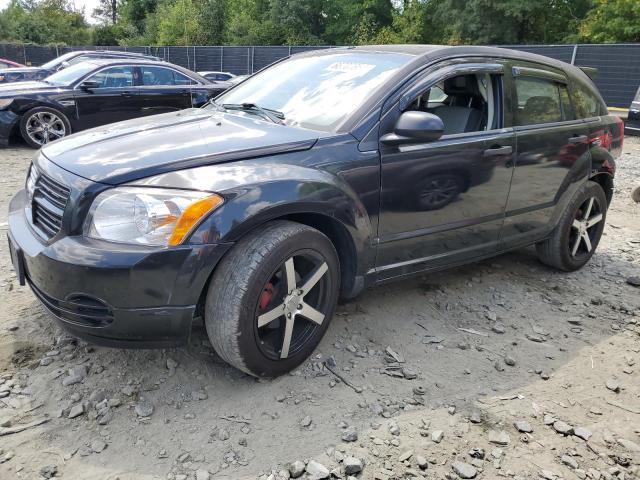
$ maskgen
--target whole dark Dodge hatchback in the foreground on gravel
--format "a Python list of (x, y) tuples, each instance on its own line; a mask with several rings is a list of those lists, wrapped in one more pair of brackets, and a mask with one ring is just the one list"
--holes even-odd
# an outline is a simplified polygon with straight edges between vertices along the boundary
[(79, 337), (178, 345), (201, 316), (223, 359), (275, 376), (365, 287), (527, 245), (582, 267), (622, 136), (589, 78), (549, 58), (315, 51), (204, 108), (46, 145), (9, 243), (21, 282)]

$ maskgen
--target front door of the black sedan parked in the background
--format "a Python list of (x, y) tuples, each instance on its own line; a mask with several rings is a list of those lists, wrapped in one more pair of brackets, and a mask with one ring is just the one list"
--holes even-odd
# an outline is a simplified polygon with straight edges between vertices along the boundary
[(83, 130), (141, 115), (134, 73), (131, 66), (107, 67), (84, 79), (96, 82), (97, 88), (76, 87), (78, 123)]

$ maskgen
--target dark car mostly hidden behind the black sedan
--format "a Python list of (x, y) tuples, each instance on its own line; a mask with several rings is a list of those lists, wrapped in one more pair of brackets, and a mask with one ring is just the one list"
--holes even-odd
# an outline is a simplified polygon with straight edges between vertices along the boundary
[(111, 50), (78, 50), (65, 53), (53, 60), (48, 61), (40, 67), (18, 67), (0, 69), (0, 84), (12, 82), (25, 82), (30, 80), (42, 80), (70, 65), (96, 59), (118, 59), (128, 58), (131, 60), (156, 60), (160, 58), (153, 55), (145, 55), (133, 52), (117, 52)]

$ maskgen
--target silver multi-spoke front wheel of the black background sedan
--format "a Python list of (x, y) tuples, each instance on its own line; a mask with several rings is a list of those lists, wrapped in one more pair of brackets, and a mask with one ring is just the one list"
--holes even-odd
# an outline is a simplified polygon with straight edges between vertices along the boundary
[(20, 134), (32, 148), (40, 148), (70, 133), (69, 119), (55, 108), (35, 107), (20, 119)]

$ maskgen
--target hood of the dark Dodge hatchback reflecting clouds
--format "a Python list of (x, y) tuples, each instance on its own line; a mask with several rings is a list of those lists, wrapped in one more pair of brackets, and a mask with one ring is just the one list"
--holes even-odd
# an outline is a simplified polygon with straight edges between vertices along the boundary
[(188, 109), (94, 128), (42, 149), (51, 162), (117, 185), (168, 171), (311, 148), (322, 132)]

